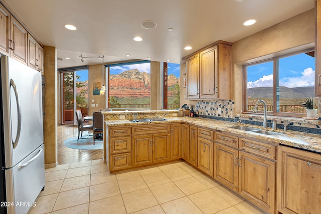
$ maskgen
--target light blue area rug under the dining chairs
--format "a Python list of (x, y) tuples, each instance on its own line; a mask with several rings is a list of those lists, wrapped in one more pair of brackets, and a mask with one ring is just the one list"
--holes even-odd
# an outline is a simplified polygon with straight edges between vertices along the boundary
[(95, 140), (95, 145), (94, 145), (94, 139), (92, 137), (93, 135), (85, 135), (85, 136), (83, 135), (82, 138), (79, 138), (79, 141), (77, 141), (78, 137), (68, 138), (64, 142), (64, 146), (72, 149), (87, 149), (87, 150), (102, 149), (103, 141)]

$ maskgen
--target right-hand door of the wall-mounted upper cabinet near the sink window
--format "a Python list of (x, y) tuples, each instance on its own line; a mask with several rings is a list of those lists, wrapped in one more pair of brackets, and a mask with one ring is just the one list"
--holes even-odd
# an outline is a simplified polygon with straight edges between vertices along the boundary
[(201, 52), (200, 98), (218, 98), (217, 46)]

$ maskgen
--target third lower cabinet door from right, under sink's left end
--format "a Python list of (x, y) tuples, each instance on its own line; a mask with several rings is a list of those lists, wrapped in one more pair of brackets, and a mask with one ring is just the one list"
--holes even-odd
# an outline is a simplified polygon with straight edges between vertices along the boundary
[(238, 151), (227, 145), (214, 145), (214, 179), (228, 188), (238, 190)]

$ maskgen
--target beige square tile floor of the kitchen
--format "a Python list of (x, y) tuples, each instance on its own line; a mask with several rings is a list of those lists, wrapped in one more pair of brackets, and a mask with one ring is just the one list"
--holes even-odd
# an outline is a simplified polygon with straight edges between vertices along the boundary
[(184, 161), (109, 173), (102, 160), (46, 169), (32, 213), (262, 213)]

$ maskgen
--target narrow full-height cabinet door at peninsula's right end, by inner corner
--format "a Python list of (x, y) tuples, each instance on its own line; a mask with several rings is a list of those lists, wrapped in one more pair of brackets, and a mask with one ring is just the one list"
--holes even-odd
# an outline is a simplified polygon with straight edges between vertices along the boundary
[(181, 158), (182, 124), (171, 127), (171, 160)]

